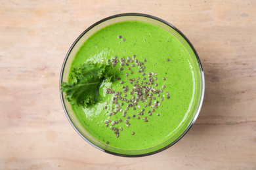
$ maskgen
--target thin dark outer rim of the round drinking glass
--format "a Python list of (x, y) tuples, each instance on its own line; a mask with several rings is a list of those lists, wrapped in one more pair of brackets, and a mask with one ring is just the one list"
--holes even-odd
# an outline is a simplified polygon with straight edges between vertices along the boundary
[(68, 121), (70, 122), (70, 124), (72, 125), (72, 127), (74, 127), (75, 131), (85, 140), (87, 141), (87, 143), (91, 144), (92, 146), (94, 146), (95, 148), (97, 148), (98, 150), (101, 150), (103, 152), (106, 152), (108, 154), (112, 154), (115, 156), (123, 156), (123, 157), (142, 157), (142, 156), (150, 156), (152, 154), (156, 154), (158, 152), (161, 152), (171, 146), (173, 146), (173, 144), (177, 143), (179, 140), (181, 140), (182, 137), (184, 137), (184, 135), (189, 131), (189, 129), (192, 127), (192, 125), (194, 124), (194, 122), (196, 122), (196, 119), (198, 118), (198, 115), (200, 113), (200, 110), (202, 108), (202, 104), (203, 104), (203, 97), (204, 97), (204, 92), (205, 92), (205, 79), (204, 79), (204, 74), (203, 74), (203, 67), (202, 67), (202, 63), (200, 61), (200, 58), (198, 56), (198, 53), (196, 52), (194, 46), (192, 45), (192, 43), (188, 40), (188, 38), (186, 38), (186, 36), (179, 30), (177, 29), (177, 27), (175, 27), (174, 25), (170, 24), (169, 22), (166, 22), (165, 20), (162, 20), (161, 18), (158, 18), (156, 16), (152, 16), (152, 15), (148, 15), (148, 14), (142, 14), (142, 13), (123, 13), (123, 14), (116, 14), (113, 16), (109, 16), (107, 18), (104, 18), (102, 20), (99, 20), (98, 22), (96, 22), (95, 24), (91, 25), (90, 27), (88, 27), (87, 29), (85, 29), (85, 31), (83, 31), (83, 33), (81, 33), (81, 35), (79, 35), (79, 37), (77, 37), (77, 39), (75, 39), (75, 41), (73, 42), (72, 46), (70, 47), (70, 49), (68, 50), (66, 57), (64, 59), (64, 62), (62, 64), (62, 69), (60, 72), (60, 84), (59, 86), (62, 84), (62, 78), (63, 78), (63, 73), (64, 73), (64, 68), (66, 66), (66, 61), (68, 60), (68, 56), (70, 55), (70, 52), (72, 51), (72, 49), (74, 48), (75, 44), (81, 39), (81, 37), (83, 37), (83, 35), (85, 35), (85, 33), (87, 33), (89, 30), (91, 30), (93, 27), (95, 27), (98, 24), (101, 24), (102, 22), (105, 22), (107, 20), (111, 20), (113, 18), (117, 18), (117, 17), (121, 17), (121, 16), (142, 16), (145, 18), (151, 18), (154, 20), (158, 20), (159, 22), (162, 22), (163, 24), (168, 25), (169, 27), (171, 27), (172, 29), (174, 29), (175, 31), (177, 31), (177, 33), (179, 33), (179, 35), (181, 35), (181, 37), (188, 43), (188, 45), (190, 46), (190, 48), (192, 49), (192, 51), (194, 52), (196, 59), (198, 61), (198, 65), (200, 67), (200, 71), (201, 71), (201, 78), (202, 78), (202, 94), (200, 97), (200, 103), (198, 105), (198, 109), (196, 111), (196, 114), (194, 116), (194, 118), (192, 119), (192, 122), (189, 124), (189, 126), (186, 128), (186, 130), (181, 134), (181, 136), (179, 136), (175, 141), (173, 141), (173, 143), (159, 149), (153, 152), (149, 152), (146, 154), (137, 154), (137, 155), (133, 155), (133, 154), (119, 154), (116, 152), (111, 152), (109, 150), (105, 150), (104, 148), (101, 148), (100, 146), (97, 146), (96, 144), (92, 143), (91, 141), (89, 141), (89, 139), (87, 139), (80, 131), (79, 129), (77, 129), (77, 127), (74, 125), (74, 123), (72, 122), (70, 115), (68, 114), (68, 111), (66, 109), (66, 105), (64, 103), (64, 96), (62, 91), (60, 90), (60, 99), (62, 102), (62, 107), (64, 109), (64, 112), (68, 118)]

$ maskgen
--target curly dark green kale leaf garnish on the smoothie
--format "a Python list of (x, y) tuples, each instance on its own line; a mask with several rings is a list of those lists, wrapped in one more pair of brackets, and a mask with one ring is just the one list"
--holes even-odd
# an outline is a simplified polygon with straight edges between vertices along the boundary
[(86, 107), (100, 101), (98, 91), (103, 80), (110, 82), (115, 79), (110, 65), (85, 63), (72, 70), (74, 83), (62, 82), (61, 90), (66, 93), (66, 99), (72, 105)]

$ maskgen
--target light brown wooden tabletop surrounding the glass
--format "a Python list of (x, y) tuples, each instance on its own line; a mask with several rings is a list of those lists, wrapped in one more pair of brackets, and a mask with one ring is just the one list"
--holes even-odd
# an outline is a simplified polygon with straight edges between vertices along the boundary
[[(83, 141), (59, 94), (66, 52), (87, 27), (123, 12), (178, 27), (205, 72), (196, 124), (171, 148), (121, 158)], [(0, 2), (0, 169), (256, 169), (256, 1)]]

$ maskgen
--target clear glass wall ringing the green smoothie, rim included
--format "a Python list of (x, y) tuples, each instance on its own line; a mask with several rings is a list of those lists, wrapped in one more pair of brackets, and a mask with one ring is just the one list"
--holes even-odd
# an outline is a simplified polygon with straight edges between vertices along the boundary
[(171, 139), (168, 141), (165, 141), (165, 143), (162, 143), (158, 146), (154, 146), (152, 148), (146, 148), (143, 150), (121, 150), (119, 148), (114, 148), (112, 146), (109, 146), (106, 143), (101, 143), (100, 141), (97, 141), (93, 136), (91, 136), (79, 123), (77, 120), (70, 103), (66, 101), (64, 97), (64, 93), (60, 91), (60, 98), (62, 101), (62, 106), (64, 108), (64, 111), (66, 113), (66, 116), (72, 126), (74, 127), (75, 131), (79, 133), (79, 135), (85, 139), (88, 143), (92, 144), (99, 150), (102, 150), (103, 152), (108, 152), (110, 154), (114, 154), (117, 156), (127, 156), (127, 157), (138, 157), (138, 156), (148, 156), (150, 154), (156, 154), (162, 150), (165, 150), (166, 148), (169, 148), (173, 144), (177, 143), (190, 129), (190, 127), (194, 124), (196, 121), (196, 118), (198, 117), (198, 114), (200, 112), (200, 109), (202, 107), (203, 103), (203, 95), (204, 95), (204, 89), (205, 89), (205, 82), (204, 82), (204, 75), (203, 75), (203, 69), (200, 62), (200, 59), (198, 57), (198, 54), (196, 53), (196, 50), (188, 41), (188, 39), (173, 25), (169, 24), (168, 22), (165, 22), (164, 20), (161, 20), (160, 18), (156, 18), (154, 16), (149, 16), (146, 14), (138, 14), (138, 13), (128, 13), (128, 14), (117, 14), (115, 16), (110, 16), (108, 18), (105, 18), (103, 20), (100, 20), (99, 22), (96, 22), (96, 24), (91, 25), (88, 29), (86, 29), (81, 35), (75, 40), (75, 42), (72, 44), (70, 50), (68, 50), (68, 54), (66, 55), (66, 58), (64, 59), (64, 63), (62, 65), (62, 70), (60, 73), (60, 84), (62, 82), (68, 82), (68, 74), (70, 73), (70, 65), (72, 64), (72, 60), (75, 57), (75, 54), (77, 53), (77, 50), (79, 50), (80, 46), (85, 42), (93, 33), (96, 31), (102, 29), (103, 27), (106, 27), (106, 25), (114, 24), (116, 22), (123, 22), (123, 21), (141, 21), (141, 22), (148, 22), (150, 24), (158, 25), (159, 27), (162, 27), (163, 29), (166, 29), (171, 34), (175, 35), (179, 41), (184, 45), (186, 50), (188, 50), (188, 53), (190, 54), (190, 57), (192, 58), (192, 61), (194, 63), (194, 68), (196, 69), (196, 78), (198, 80), (197, 85), (197, 92), (196, 92), (196, 101), (194, 104), (194, 108), (192, 111), (192, 114), (190, 115), (190, 118), (184, 124), (181, 131), (179, 131), (177, 134), (175, 134)]

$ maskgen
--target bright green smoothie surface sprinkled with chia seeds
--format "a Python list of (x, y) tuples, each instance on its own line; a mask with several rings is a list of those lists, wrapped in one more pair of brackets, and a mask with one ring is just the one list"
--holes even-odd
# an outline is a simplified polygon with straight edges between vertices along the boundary
[(110, 64), (118, 77), (102, 82), (100, 102), (72, 106), (81, 126), (100, 143), (142, 150), (182, 133), (198, 82), (192, 59), (175, 36), (146, 22), (108, 25), (84, 42), (71, 67), (88, 62)]

